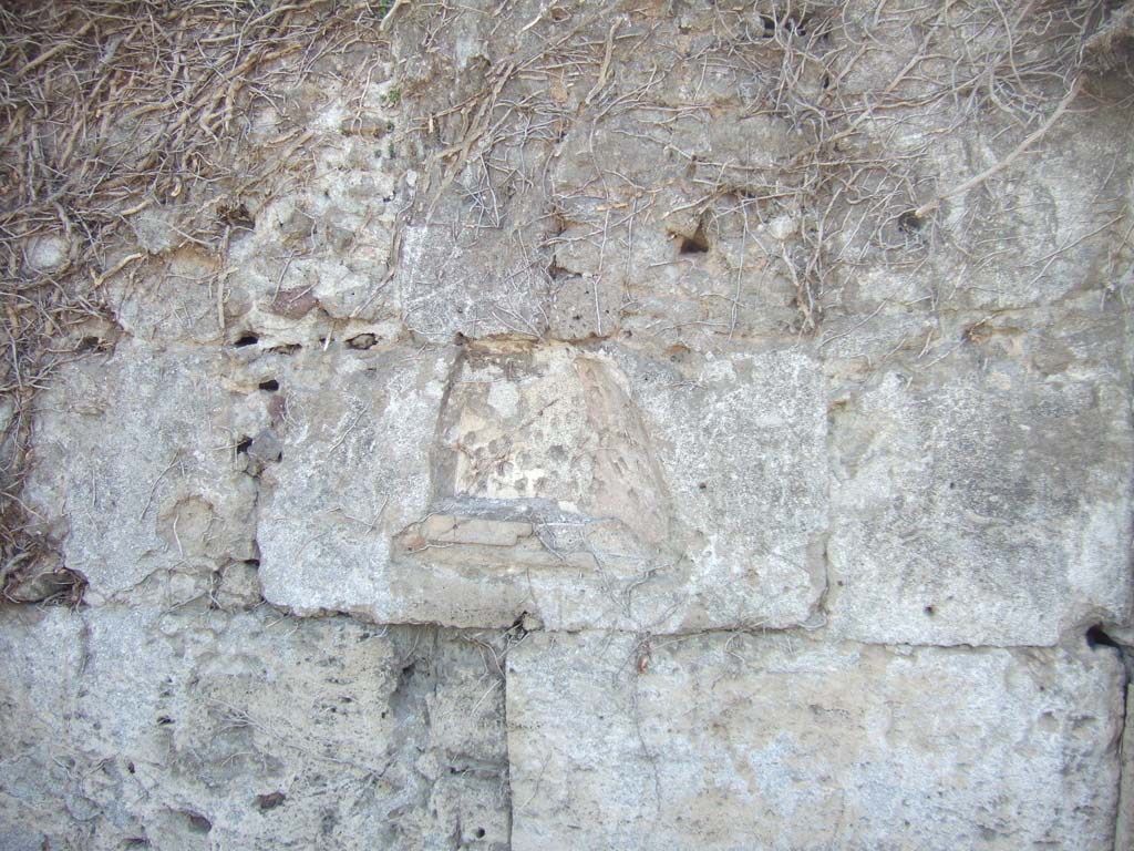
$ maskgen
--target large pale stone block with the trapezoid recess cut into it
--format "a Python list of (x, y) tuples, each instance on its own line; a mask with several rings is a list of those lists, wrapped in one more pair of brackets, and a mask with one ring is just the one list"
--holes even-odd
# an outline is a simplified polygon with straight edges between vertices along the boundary
[(551, 629), (815, 614), (826, 407), (798, 352), (500, 339), (289, 376), (257, 531), (271, 603)]

